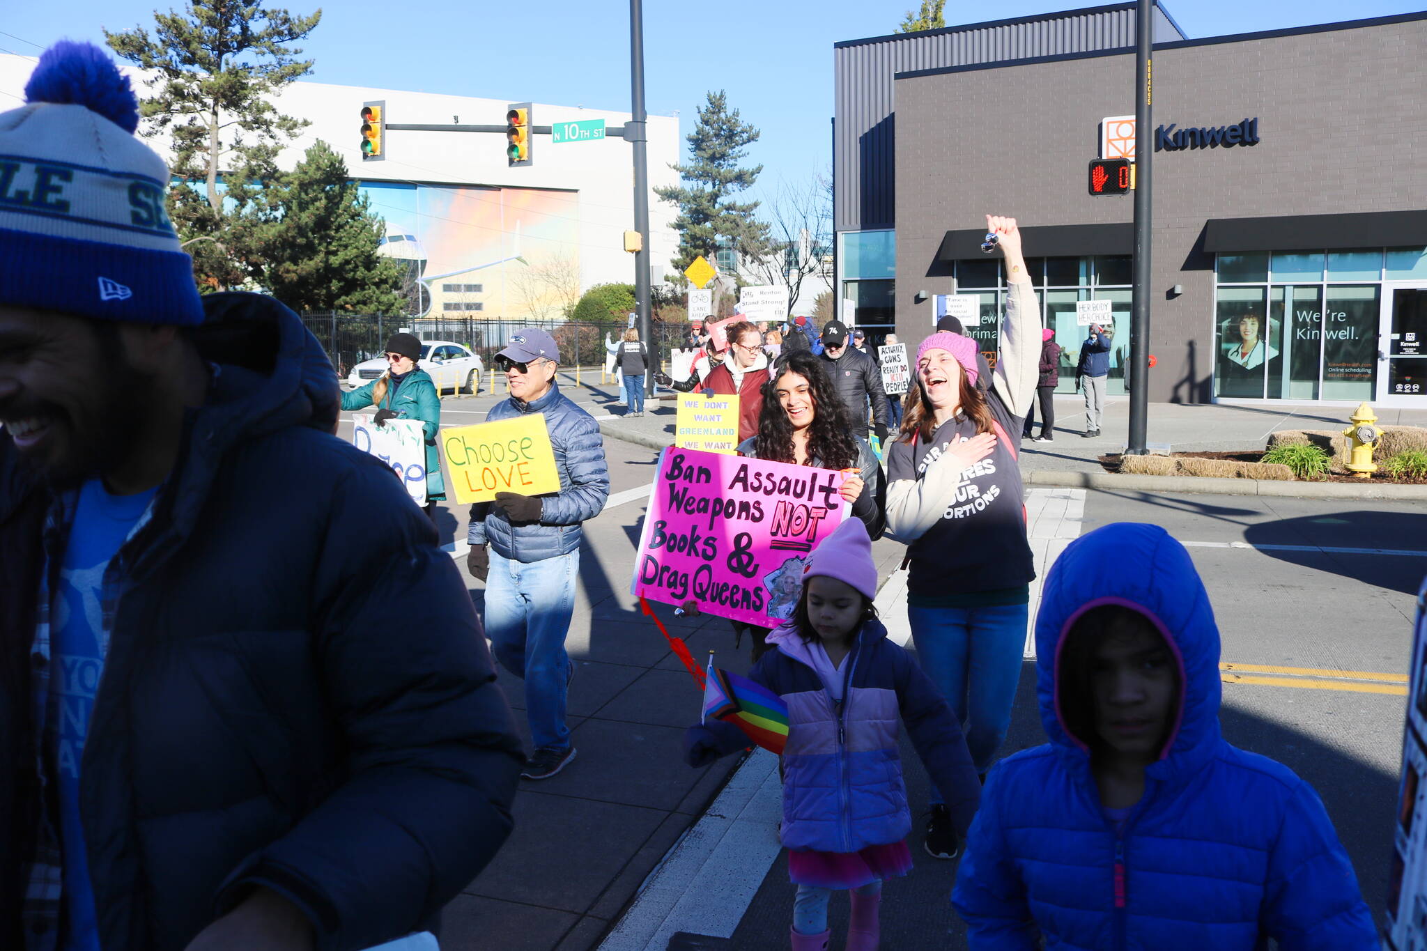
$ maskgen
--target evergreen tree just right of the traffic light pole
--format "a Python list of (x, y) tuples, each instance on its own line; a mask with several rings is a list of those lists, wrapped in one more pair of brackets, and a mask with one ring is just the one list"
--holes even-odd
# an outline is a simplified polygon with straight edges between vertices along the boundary
[(762, 165), (739, 165), (758, 135), (756, 128), (739, 118), (736, 108), (729, 111), (722, 90), (709, 93), (708, 106), (699, 108), (699, 120), (686, 137), (691, 161), (671, 165), (684, 184), (654, 190), (664, 201), (679, 205), (679, 215), (671, 225), (679, 232), (679, 251), (672, 259), (679, 279), (696, 257), (712, 257), (721, 247), (751, 258), (768, 254), (768, 225), (753, 220), (759, 202), (733, 201), (733, 195), (751, 187), (763, 171)]

